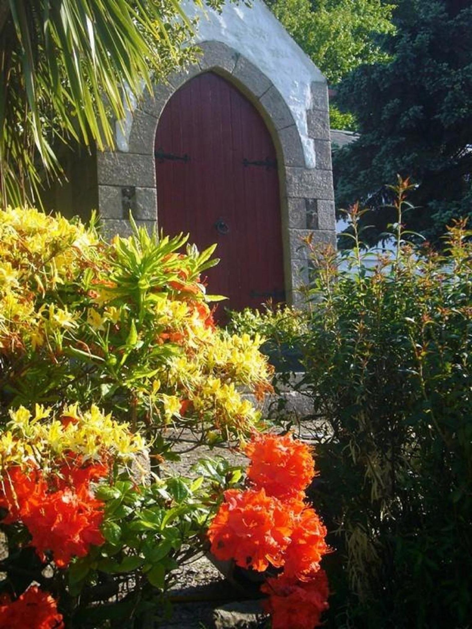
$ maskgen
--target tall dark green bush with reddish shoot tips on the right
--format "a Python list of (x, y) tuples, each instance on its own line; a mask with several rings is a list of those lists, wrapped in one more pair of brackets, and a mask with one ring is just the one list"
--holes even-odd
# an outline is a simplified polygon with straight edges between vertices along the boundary
[(327, 557), (332, 626), (465, 627), (472, 613), (472, 243), (464, 222), (445, 253), (402, 229), (394, 252), (308, 239), (313, 277), (301, 383), (331, 435), (317, 447), (316, 497), (336, 552)]

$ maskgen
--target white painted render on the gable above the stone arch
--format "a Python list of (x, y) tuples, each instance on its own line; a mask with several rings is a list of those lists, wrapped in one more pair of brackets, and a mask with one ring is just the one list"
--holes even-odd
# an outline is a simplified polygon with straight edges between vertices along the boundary
[[(300, 134), (307, 168), (315, 167), (313, 140), (308, 137), (306, 110), (312, 106), (312, 82), (326, 83), (325, 77), (293, 41), (262, 0), (251, 6), (228, 0), (222, 12), (201, 8), (187, 0), (183, 4), (189, 18), (198, 18), (194, 42), (216, 40), (234, 48), (250, 60), (278, 89), (291, 110)], [(128, 108), (126, 108), (128, 109)], [(134, 107), (133, 107), (134, 109)], [(132, 113), (116, 123), (118, 150), (128, 151)]]

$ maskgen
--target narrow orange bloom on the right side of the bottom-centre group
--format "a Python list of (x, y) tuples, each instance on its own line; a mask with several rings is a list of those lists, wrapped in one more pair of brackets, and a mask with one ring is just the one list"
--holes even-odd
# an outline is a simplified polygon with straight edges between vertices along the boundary
[(320, 569), (320, 561), (329, 547), (327, 530), (315, 509), (305, 508), (295, 520), (291, 542), (285, 552), (284, 574), (301, 581), (311, 579)]

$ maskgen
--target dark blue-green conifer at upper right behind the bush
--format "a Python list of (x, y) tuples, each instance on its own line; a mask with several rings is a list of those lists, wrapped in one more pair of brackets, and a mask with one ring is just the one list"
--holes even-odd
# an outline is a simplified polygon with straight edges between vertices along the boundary
[(472, 216), (472, 6), (465, 0), (400, 0), (386, 63), (362, 65), (342, 81), (338, 103), (361, 137), (334, 155), (337, 208), (360, 199), (374, 212), (364, 240), (392, 219), (386, 183), (410, 175), (417, 187), (408, 228), (438, 243), (452, 218)]

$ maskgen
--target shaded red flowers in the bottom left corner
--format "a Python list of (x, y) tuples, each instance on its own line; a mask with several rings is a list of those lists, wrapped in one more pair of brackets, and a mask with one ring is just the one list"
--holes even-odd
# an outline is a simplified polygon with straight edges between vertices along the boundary
[(56, 601), (37, 586), (28, 587), (16, 601), (0, 599), (0, 629), (62, 629)]

